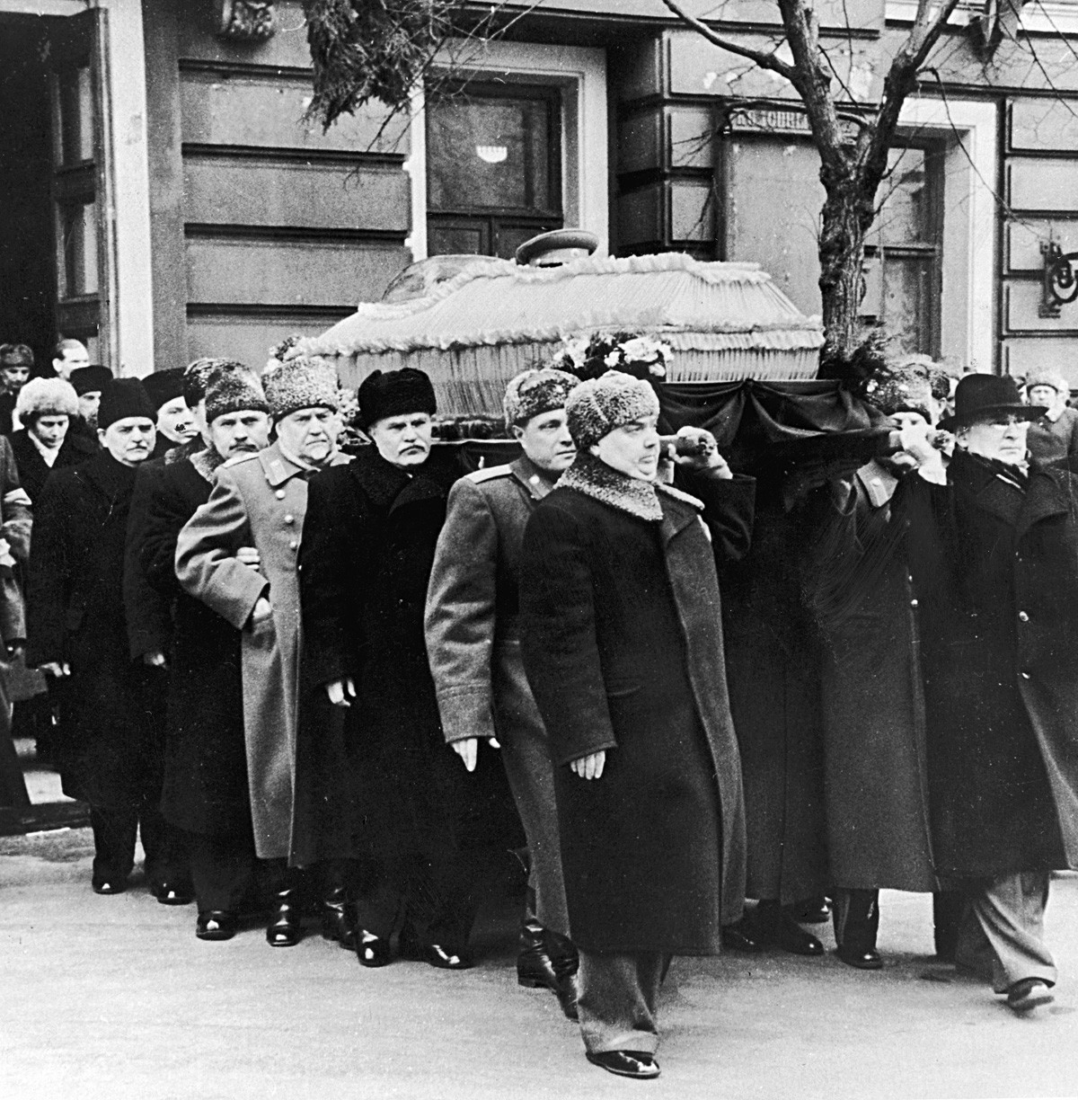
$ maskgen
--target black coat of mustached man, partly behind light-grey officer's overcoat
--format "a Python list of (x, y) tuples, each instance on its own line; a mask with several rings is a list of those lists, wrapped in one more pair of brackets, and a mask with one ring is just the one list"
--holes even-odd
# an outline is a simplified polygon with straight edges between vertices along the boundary
[(157, 468), (141, 531), (132, 529), (129, 544), (174, 624), (162, 812), (190, 833), (237, 836), (251, 833), (240, 631), (176, 580), (176, 539), (212, 486), (211, 463), (196, 462)]

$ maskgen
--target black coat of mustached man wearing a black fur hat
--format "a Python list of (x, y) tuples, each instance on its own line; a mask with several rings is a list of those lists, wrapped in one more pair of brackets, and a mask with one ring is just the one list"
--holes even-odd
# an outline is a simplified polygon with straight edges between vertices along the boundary
[(427, 663), (424, 608), (455, 470), (409, 476), (373, 447), (309, 484), (300, 548), (305, 678), (355, 681), (346, 791), (356, 853), (449, 859), (519, 837), (497, 760), (469, 773), (446, 744)]

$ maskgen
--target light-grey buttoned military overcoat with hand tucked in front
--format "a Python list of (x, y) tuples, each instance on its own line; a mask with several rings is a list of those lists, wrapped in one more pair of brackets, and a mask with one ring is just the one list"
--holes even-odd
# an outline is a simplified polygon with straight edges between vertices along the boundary
[[(293, 856), (306, 474), (276, 443), (232, 459), (176, 543), (180, 585), (242, 631), (243, 726), (260, 859)], [(240, 547), (258, 551), (257, 569), (235, 557)], [(260, 596), (273, 614), (251, 624)]]

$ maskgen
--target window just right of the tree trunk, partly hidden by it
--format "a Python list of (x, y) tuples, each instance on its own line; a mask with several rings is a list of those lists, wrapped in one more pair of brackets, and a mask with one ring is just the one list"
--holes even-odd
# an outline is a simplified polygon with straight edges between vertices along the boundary
[(939, 354), (943, 275), (943, 148), (892, 148), (882, 202), (866, 242), (866, 320), (906, 352)]

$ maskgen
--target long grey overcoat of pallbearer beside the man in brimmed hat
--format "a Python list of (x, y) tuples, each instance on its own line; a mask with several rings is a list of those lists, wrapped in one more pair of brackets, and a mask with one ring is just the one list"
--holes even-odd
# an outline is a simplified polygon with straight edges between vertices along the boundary
[(827, 851), (833, 886), (937, 888), (924, 691), (899, 482), (877, 462), (839, 510), (818, 494), (806, 596), (820, 627)]

